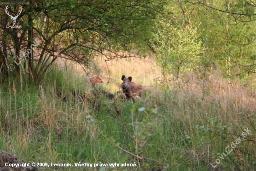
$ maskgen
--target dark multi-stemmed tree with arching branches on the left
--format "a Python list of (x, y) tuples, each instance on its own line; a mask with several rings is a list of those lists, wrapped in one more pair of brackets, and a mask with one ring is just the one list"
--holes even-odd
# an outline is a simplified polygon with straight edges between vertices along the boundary
[[(18, 13), (19, 6), (13, 7), (9, 6), (10, 13)], [(153, 0), (41, 0), (22, 7), (16, 22), (22, 28), (7, 28), (9, 16), (0, 18), (0, 66), (4, 66), (0, 72), (8, 76), (13, 58), (16, 63), (25, 59), (23, 67), (13, 63), (15, 73), (21, 75), (24, 69), (30, 79), (38, 80), (57, 58), (87, 66), (97, 53), (111, 53), (108, 59), (113, 59), (120, 57), (119, 50), (145, 48), (162, 4)], [(1, 13), (5, 9), (2, 4)]]

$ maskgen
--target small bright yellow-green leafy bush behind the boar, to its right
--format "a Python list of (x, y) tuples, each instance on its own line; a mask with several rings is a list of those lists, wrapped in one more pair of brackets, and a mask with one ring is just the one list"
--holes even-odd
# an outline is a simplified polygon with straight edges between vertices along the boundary
[(156, 61), (164, 72), (189, 72), (200, 63), (204, 47), (198, 39), (196, 28), (182, 28), (164, 22), (160, 23), (158, 33), (151, 39), (157, 52)]

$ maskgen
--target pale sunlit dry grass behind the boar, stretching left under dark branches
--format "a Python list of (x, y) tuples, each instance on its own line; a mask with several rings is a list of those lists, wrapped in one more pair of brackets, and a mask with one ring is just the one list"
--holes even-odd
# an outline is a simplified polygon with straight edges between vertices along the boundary
[(57, 65), (61, 67), (67, 66), (67, 69), (73, 74), (81, 74), (88, 83), (90, 82), (89, 78), (96, 75), (101, 76), (103, 80), (102, 86), (110, 92), (120, 90), (122, 75), (131, 76), (132, 81), (149, 87), (153, 86), (155, 80), (161, 77), (160, 68), (155, 60), (150, 57), (108, 61), (106, 57), (99, 55), (91, 62), (89, 69), (85, 69), (74, 62), (63, 61), (62, 59), (57, 61)]

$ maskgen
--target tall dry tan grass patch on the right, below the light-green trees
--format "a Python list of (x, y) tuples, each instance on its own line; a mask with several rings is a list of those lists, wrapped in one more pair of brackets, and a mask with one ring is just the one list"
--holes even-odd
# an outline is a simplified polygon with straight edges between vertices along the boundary
[[(222, 121), (233, 123), (239, 120), (239, 113), (252, 113), (255, 111), (254, 97), (250, 96), (250, 91), (246, 89), (240, 80), (233, 79), (229, 84), (227, 79), (222, 78), (218, 69), (204, 73), (189, 73), (180, 76), (169, 82), (174, 92), (177, 104), (182, 104), (186, 112), (176, 111), (176, 106), (169, 106), (177, 120), (191, 120), (199, 117), (203, 121), (206, 115), (199, 113), (214, 112), (217, 118)], [(163, 102), (165, 103), (165, 102)], [(166, 102), (168, 103), (168, 102)], [(192, 107), (191, 107), (192, 106)]]

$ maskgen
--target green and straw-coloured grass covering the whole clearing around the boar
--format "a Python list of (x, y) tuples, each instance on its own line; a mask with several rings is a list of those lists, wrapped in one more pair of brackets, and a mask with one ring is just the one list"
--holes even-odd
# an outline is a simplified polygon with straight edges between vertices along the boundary
[[(178, 82), (160, 84), (161, 74), (153, 59), (107, 63), (108, 67), (99, 57), (94, 64), (101, 73), (91, 75), (110, 77), (115, 83), (104, 82), (97, 88), (114, 93), (125, 74), (151, 91), (135, 103), (103, 95), (77, 99), (73, 90), (93, 91), (85, 74), (74, 69), (77, 66), (56, 67), (36, 84), (6, 80), (0, 86), (0, 149), (30, 163), (73, 165), (41, 166), (40, 171), (209, 171), (214, 170), (210, 163), (215, 165), (248, 127), (251, 133), (220, 160), (216, 170), (256, 168), (255, 105), (248, 95), (251, 92), (239, 81), (229, 88), (215, 71), (205, 79), (190, 74)], [(66, 99), (59, 98), (58, 92)], [(99, 166), (75, 167), (79, 162)], [(110, 163), (137, 166), (112, 168)]]

